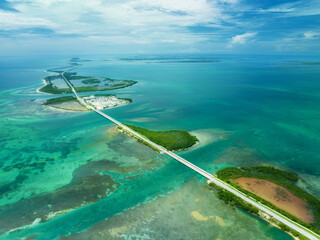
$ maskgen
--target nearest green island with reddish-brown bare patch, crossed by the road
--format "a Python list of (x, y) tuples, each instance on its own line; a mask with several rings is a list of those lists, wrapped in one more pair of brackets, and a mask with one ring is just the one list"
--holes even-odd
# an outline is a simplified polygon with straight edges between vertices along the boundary
[[(295, 173), (268, 166), (228, 167), (219, 170), (216, 176), (248, 197), (274, 209), (287, 218), (320, 233), (320, 200), (298, 186), (303, 182)], [(307, 239), (288, 226), (225, 189), (210, 183), (217, 190), (217, 196), (226, 204), (237, 206), (269, 222), (299, 239)]]

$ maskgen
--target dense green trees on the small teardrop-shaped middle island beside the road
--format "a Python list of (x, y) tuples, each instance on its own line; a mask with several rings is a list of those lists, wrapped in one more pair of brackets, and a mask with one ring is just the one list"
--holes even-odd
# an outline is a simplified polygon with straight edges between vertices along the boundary
[(195, 136), (190, 135), (187, 131), (152, 131), (131, 124), (125, 125), (170, 151), (177, 151), (191, 147), (198, 141)]

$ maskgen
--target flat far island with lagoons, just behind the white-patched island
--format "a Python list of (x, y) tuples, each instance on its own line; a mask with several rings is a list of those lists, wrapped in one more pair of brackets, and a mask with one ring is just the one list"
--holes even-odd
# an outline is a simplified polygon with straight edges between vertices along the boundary
[[(38, 89), (39, 92), (50, 94), (72, 93), (71, 88), (62, 77), (63, 71), (48, 70), (56, 75), (43, 78), (45, 86)], [(72, 84), (77, 92), (107, 91), (132, 86), (137, 83), (133, 80), (118, 80), (106, 77), (78, 76), (76, 72), (65, 72), (65, 78)]]

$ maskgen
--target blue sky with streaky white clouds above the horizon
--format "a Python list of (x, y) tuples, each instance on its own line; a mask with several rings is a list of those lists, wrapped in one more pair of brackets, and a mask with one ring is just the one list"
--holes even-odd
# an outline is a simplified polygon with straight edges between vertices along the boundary
[(0, 0), (0, 56), (320, 54), (320, 0)]

